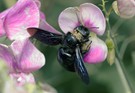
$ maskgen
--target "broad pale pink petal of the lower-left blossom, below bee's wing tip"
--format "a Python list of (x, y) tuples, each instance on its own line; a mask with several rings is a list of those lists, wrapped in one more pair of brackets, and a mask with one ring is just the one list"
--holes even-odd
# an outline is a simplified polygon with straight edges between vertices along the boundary
[(16, 58), (18, 71), (33, 72), (45, 64), (44, 55), (28, 40), (16, 40), (10, 46)]

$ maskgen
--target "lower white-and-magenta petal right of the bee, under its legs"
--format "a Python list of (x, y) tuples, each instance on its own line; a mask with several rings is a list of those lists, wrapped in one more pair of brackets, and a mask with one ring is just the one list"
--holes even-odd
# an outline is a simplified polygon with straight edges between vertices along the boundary
[(97, 37), (92, 37), (91, 40), (91, 47), (84, 55), (84, 61), (90, 64), (103, 62), (108, 52), (106, 44)]

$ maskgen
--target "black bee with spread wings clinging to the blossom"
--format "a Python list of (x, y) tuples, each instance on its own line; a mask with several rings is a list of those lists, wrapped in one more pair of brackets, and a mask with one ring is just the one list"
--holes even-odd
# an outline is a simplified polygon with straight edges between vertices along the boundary
[(90, 49), (90, 31), (84, 26), (78, 26), (66, 34), (56, 34), (39, 28), (32, 36), (48, 45), (61, 45), (58, 50), (58, 62), (68, 71), (76, 72), (82, 81), (89, 84), (89, 75), (84, 66), (83, 56)]

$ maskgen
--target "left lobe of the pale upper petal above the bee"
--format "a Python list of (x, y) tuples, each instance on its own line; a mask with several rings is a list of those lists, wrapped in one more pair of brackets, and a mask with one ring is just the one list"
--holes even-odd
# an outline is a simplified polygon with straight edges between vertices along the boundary
[(80, 25), (77, 12), (78, 10), (75, 7), (69, 7), (59, 15), (58, 23), (64, 33), (73, 31), (74, 28)]

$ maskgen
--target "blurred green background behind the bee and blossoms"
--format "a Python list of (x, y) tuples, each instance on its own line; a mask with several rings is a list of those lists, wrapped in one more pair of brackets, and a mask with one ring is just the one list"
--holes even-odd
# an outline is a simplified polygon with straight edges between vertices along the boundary
[[(1, 0), (0, 11), (7, 9), (15, 1)], [(113, 0), (108, 1), (107, 8), (109, 8)], [(41, 0), (41, 10), (45, 13), (47, 22), (61, 31), (58, 26), (58, 16), (61, 11), (67, 7), (79, 6), (86, 2), (92, 2), (98, 6), (101, 4), (101, 0)], [(129, 42), (128, 39), (135, 35), (135, 18), (121, 19), (113, 12), (110, 16), (110, 24), (113, 27), (113, 31), (116, 32), (118, 49), (121, 48), (123, 42)], [(106, 34), (101, 38), (105, 40)], [(52, 85), (58, 93), (127, 93), (115, 64), (110, 66), (107, 61), (100, 64), (85, 64), (90, 76), (90, 84), (85, 85), (75, 73), (68, 72), (59, 65), (57, 61), (59, 46), (53, 47), (39, 43), (37, 47), (45, 54), (46, 65), (34, 73), (36, 80)], [(128, 79), (134, 90), (135, 41), (128, 44), (123, 62)]]

